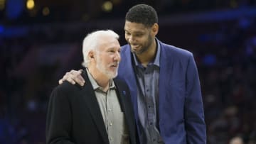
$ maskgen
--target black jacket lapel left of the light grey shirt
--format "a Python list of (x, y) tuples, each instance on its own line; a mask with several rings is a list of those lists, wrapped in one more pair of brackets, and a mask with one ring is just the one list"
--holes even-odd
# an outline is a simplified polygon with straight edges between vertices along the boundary
[(105, 141), (105, 143), (109, 143), (105, 123), (102, 118), (102, 113), (100, 112), (100, 106), (97, 102), (95, 92), (92, 88), (90, 80), (87, 77), (86, 71), (82, 73), (82, 77), (85, 79), (85, 86), (82, 87), (81, 94), (85, 99), (85, 104), (89, 109), (90, 113), (92, 114), (92, 118), (95, 121), (95, 125), (97, 126), (100, 135), (102, 135), (103, 140)]

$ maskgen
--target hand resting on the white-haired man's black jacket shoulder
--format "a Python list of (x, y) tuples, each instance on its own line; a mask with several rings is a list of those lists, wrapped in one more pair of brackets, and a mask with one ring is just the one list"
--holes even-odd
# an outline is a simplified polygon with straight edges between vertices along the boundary
[(59, 80), (59, 84), (62, 84), (63, 81), (68, 81), (71, 84), (78, 83), (80, 86), (85, 84), (85, 79), (81, 76), (82, 70), (71, 70), (66, 72), (62, 79)]

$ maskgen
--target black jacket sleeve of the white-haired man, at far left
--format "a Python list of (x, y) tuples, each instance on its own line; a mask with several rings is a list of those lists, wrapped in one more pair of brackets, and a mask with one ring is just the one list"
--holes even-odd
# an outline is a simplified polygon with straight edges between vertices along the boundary
[(72, 116), (67, 92), (57, 87), (50, 95), (46, 118), (47, 144), (73, 144), (70, 140)]

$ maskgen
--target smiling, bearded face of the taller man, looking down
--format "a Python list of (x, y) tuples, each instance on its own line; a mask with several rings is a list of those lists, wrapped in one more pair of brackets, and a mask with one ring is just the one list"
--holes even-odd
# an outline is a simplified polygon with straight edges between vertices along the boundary
[(155, 35), (158, 32), (157, 24), (146, 27), (142, 23), (132, 23), (125, 21), (124, 31), (127, 43), (131, 45), (131, 51), (136, 55), (141, 55), (151, 48)]

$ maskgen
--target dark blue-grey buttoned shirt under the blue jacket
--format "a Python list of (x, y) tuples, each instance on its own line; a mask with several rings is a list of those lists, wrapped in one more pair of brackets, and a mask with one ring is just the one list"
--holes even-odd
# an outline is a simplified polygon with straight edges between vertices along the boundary
[(137, 77), (137, 100), (139, 113), (139, 139), (141, 143), (164, 143), (159, 133), (159, 68), (160, 45), (156, 40), (157, 51), (154, 61), (144, 67), (134, 53), (133, 59)]

